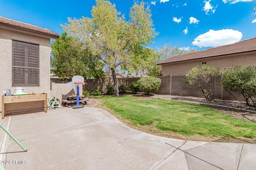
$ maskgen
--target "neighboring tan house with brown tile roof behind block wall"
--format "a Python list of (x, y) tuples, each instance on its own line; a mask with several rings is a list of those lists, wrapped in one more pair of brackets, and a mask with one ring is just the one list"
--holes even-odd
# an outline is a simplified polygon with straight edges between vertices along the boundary
[(158, 63), (158, 65), (162, 65), (163, 75), (185, 75), (193, 67), (203, 64), (218, 67), (222, 72), (235, 65), (256, 65), (256, 38), (171, 56)]

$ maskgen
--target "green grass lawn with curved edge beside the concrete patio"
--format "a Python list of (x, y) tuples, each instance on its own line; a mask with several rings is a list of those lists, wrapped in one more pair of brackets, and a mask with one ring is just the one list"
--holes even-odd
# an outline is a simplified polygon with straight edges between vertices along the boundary
[(182, 101), (138, 96), (104, 96), (103, 107), (131, 125), (170, 136), (256, 138), (256, 123)]

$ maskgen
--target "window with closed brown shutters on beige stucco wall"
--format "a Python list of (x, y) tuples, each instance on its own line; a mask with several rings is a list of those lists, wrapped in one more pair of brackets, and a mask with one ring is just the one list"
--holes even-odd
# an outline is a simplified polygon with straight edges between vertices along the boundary
[(12, 86), (39, 86), (39, 45), (12, 41)]

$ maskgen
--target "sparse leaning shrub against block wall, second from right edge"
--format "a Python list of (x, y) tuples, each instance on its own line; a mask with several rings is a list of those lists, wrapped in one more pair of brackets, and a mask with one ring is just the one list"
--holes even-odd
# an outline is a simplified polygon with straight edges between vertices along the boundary
[(211, 77), (221, 75), (221, 71), (211, 65), (195, 66), (186, 75), (186, 83), (196, 85), (202, 91), (204, 98), (208, 101), (213, 100), (213, 89), (210, 85)]

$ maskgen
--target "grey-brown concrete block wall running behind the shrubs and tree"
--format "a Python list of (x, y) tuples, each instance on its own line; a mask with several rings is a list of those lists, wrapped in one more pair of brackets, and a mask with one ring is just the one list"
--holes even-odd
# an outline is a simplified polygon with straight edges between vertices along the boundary
[[(155, 94), (159, 95), (173, 95), (173, 96), (193, 96), (193, 97), (203, 97), (202, 92), (197, 88), (197, 86), (190, 85), (186, 83), (185, 75), (166, 75), (158, 77), (161, 79), (161, 87)], [(118, 86), (124, 84), (126, 86), (130, 86), (132, 82), (139, 80), (140, 78), (118, 78)], [(55, 81), (56, 82), (56, 81)], [(94, 89), (100, 89), (103, 93), (107, 92), (107, 85), (111, 84), (114, 86), (112, 78), (102, 78), (97, 80), (85, 80), (84, 90), (93, 91)], [(211, 88), (213, 89), (213, 96), (216, 99), (223, 100), (235, 100), (233, 95), (237, 98), (237, 100), (243, 100), (243, 96), (232, 92), (233, 95), (230, 95), (228, 91), (222, 88), (221, 77), (211, 78), (210, 81)], [(60, 87), (61, 85), (55, 84), (58, 86), (58, 89), (61, 89), (59, 92), (52, 92), (53, 94), (63, 94), (68, 91), (68, 89)], [(205, 84), (204, 88), (208, 88)], [(65, 92), (64, 92), (64, 91)], [(54, 91), (54, 90), (53, 90)], [(57, 90), (55, 90), (57, 91)], [(58, 96), (58, 95), (54, 95)]]

